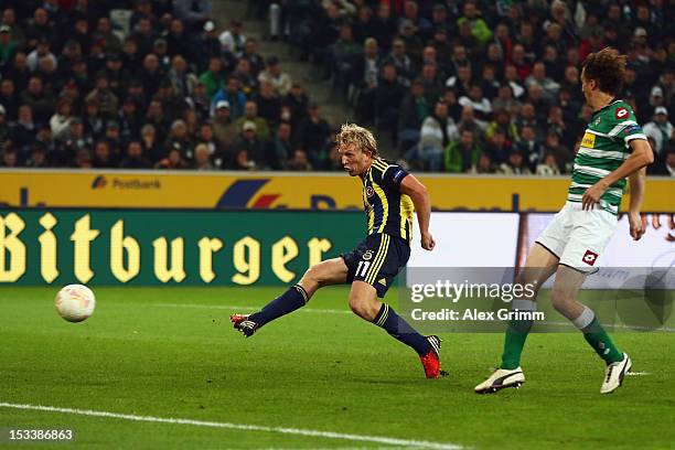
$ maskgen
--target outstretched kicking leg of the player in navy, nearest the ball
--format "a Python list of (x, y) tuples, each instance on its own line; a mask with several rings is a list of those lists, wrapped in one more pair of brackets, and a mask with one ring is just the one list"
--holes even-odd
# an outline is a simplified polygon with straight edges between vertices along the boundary
[(343, 258), (328, 259), (310, 267), (297, 285), (267, 303), (253, 314), (233, 314), (229, 320), (234, 328), (246, 336), (282, 315), (303, 307), (314, 292), (323, 286), (340, 285), (346, 281), (347, 267)]

